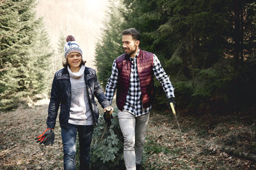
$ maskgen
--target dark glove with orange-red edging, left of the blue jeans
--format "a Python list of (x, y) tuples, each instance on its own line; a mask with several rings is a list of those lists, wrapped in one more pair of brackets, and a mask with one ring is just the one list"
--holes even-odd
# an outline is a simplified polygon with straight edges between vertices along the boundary
[(44, 145), (52, 145), (54, 143), (54, 132), (53, 129), (48, 128), (46, 129), (42, 134), (40, 134), (39, 136), (36, 137), (36, 143), (40, 143), (40, 145), (42, 143), (44, 143)]

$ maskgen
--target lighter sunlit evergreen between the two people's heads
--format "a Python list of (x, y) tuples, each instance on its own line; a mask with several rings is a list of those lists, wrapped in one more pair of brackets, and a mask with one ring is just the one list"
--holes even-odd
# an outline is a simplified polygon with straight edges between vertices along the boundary
[(124, 7), (120, 1), (110, 1), (108, 18), (105, 23), (103, 36), (96, 46), (95, 62), (97, 66), (97, 76), (102, 82), (102, 87), (106, 87), (108, 78), (111, 75), (113, 60), (123, 53), (122, 50), (122, 27), (123, 18), (121, 12)]

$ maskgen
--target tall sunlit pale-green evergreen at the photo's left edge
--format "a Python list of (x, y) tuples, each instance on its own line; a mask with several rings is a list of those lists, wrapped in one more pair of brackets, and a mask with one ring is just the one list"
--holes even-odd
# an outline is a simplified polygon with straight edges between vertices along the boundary
[(42, 21), (35, 18), (33, 8), (35, 0), (0, 3), (1, 110), (14, 108), (22, 97), (43, 89), (45, 63), (51, 50), (44, 52), (48, 45), (41, 29)]

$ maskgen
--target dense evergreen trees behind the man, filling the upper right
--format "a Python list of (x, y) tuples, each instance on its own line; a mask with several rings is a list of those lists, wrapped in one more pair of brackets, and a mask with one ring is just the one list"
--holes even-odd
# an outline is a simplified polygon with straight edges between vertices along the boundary
[[(128, 0), (110, 8), (95, 59), (103, 87), (124, 52), (121, 32), (134, 27), (141, 49), (155, 53), (170, 76), (179, 108), (224, 113), (255, 104), (255, 1)], [(167, 100), (154, 82), (161, 110)]]

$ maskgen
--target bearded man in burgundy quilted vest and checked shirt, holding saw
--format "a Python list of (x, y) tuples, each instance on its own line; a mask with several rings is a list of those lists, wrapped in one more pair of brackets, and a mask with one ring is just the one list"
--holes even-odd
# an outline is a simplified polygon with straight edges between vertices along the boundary
[(174, 102), (172, 83), (156, 55), (141, 50), (140, 32), (134, 28), (122, 32), (124, 52), (113, 62), (106, 85), (106, 97), (116, 93), (118, 120), (124, 136), (126, 169), (140, 169), (149, 111), (153, 98), (153, 74), (163, 86), (169, 103)]

